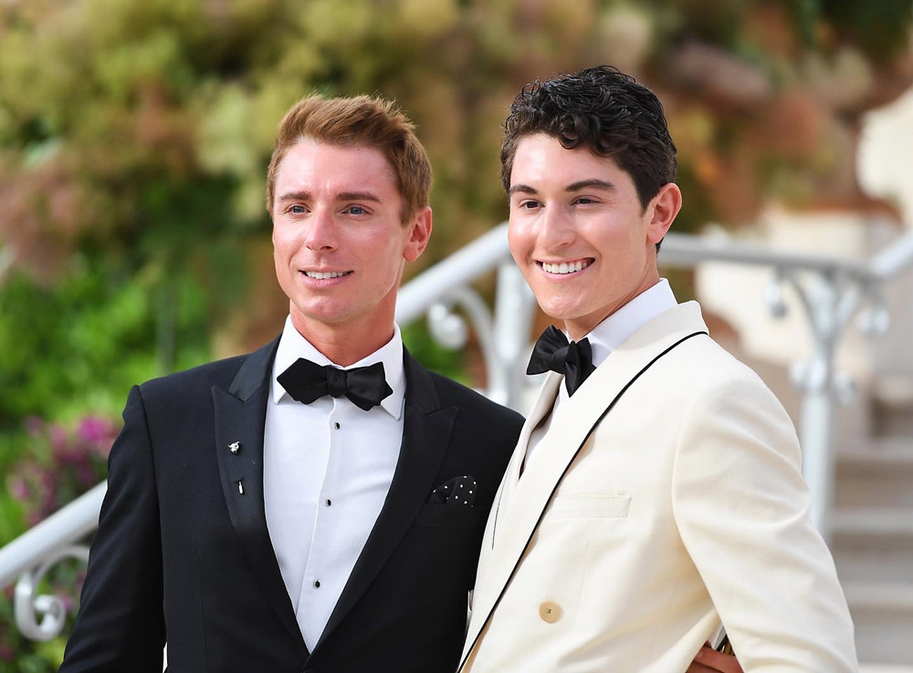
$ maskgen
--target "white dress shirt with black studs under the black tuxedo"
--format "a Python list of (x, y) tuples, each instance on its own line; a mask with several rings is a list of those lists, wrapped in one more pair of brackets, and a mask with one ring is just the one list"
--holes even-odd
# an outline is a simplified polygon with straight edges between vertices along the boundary
[(403, 340), (394, 325), (385, 346), (343, 368), (383, 362), (393, 394), (368, 411), (345, 397), (311, 404), (292, 399), (277, 377), (299, 357), (334, 365), (299, 334), (289, 316), (270, 380), (263, 500), (279, 571), (312, 650), (394, 478), (403, 440)]

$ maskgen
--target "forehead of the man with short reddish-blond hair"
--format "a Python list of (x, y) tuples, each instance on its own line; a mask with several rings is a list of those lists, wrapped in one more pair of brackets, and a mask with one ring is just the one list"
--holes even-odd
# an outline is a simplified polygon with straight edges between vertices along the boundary
[(381, 150), (305, 138), (289, 148), (278, 166), (278, 197), (289, 189), (352, 191), (356, 188), (399, 194), (393, 167)]

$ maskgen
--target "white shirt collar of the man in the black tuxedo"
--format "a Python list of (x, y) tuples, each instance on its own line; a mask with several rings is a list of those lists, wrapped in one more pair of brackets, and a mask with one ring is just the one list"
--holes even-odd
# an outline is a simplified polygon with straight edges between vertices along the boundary
[(332, 365), (341, 369), (352, 369), (356, 367), (368, 367), (375, 362), (383, 362), (383, 376), (387, 380), (387, 385), (393, 388), (393, 393), (381, 400), (381, 407), (387, 411), (394, 419), (399, 420), (403, 413), (403, 399), (405, 397), (405, 377), (403, 371), (403, 337), (400, 334), (400, 328), (394, 323), (394, 336), (382, 347), (375, 350), (371, 355), (362, 357), (349, 367), (340, 367), (330, 358), (323, 355), (314, 347), (308, 339), (301, 336), (300, 332), (291, 323), (291, 316), (286, 318), (285, 327), (282, 330), (282, 336), (279, 338), (279, 345), (276, 349), (276, 359), (273, 361), (273, 374), (270, 380), (270, 396), (275, 404), (279, 400), (288, 396), (285, 388), (282, 388), (277, 377), (289, 368), (299, 357), (304, 357), (321, 367)]

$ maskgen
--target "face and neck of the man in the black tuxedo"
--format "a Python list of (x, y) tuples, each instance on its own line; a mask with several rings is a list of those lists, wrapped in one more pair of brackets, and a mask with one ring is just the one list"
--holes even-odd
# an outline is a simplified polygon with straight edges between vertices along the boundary
[(406, 224), (402, 214), (394, 172), (375, 148), (306, 139), (279, 166), (272, 204), (278, 283), (294, 326), (338, 364), (351, 363), (327, 352), (334, 344), (354, 362), (393, 335), (404, 262), (422, 254), (431, 233), (430, 208)]

